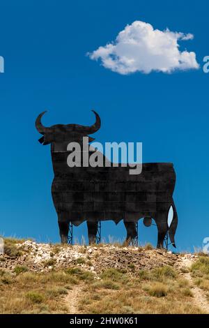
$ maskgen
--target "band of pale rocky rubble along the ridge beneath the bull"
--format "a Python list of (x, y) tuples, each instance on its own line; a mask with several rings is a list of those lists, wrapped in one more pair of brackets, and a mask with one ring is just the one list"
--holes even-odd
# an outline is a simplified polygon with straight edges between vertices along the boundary
[[(194, 262), (198, 256), (192, 254), (175, 255), (171, 251), (167, 252), (161, 249), (145, 250), (138, 247), (118, 247), (105, 244), (104, 246), (60, 246), (58, 253), (54, 252), (54, 246), (49, 244), (36, 244), (33, 241), (25, 241), (20, 244), (27, 253), (20, 258), (10, 258), (3, 255), (3, 261), (0, 261), (1, 268), (8, 268), (10, 271), (18, 265), (25, 265), (29, 271), (47, 272), (54, 266), (45, 267), (45, 261), (51, 259), (50, 253), (54, 253), (56, 260), (55, 267), (58, 270), (65, 270), (70, 267), (80, 267), (82, 270), (91, 271), (95, 277), (108, 268), (116, 268), (127, 271), (131, 276), (137, 274), (140, 269), (153, 269), (177, 263), (179, 267), (182, 264)], [(84, 253), (82, 250), (86, 250)], [(96, 255), (96, 256), (95, 256)], [(2, 255), (1, 255), (2, 257)], [(77, 258), (91, 259), (91, 264), (78, 264)], [(86, 259), (87, 260), (87, 259)], [(130, 265), (134, 264), (134, 270)]]

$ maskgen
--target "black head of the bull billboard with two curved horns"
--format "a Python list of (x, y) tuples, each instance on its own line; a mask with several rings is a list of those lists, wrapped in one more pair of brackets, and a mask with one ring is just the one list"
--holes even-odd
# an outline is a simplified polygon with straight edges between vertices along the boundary
[[(47, 111), (45, 111), (47, 112)], [(43, 136), (38, 140), (40, 144), (59, 143), (65, 144), (66, 142), (82, 142), (83, 137), (88, 137), (88, 134), (95, 133), (101, 126), (101, 120), (94, 110), (95, 124), (92, 126), (81, 126), (79, 124), (56, 124), (54, 126), (43, 126), (41, 118), (45, 112), (38, 115), (36, 119), (36, 128)], [(93, 141), (93, 137), (88, 137), (88, 141)]]

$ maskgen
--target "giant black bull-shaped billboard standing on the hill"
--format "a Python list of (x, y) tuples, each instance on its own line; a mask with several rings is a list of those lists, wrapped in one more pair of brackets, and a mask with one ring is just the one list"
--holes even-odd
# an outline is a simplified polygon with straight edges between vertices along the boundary
[[(93, 111), (94, 112), (94, 111)], [(38, 115), (36, 128), (43, 136), (41, 144), (51, 144), (54, 179), (52, 198), (58, 216), (61, 242), (68, 241), (70, 221), (79, 225), (87, 221), (88, 239), (95, 242), (98, 221), (123, 219), (127, 230), (127, 241), (137, 235), (136, 223), (139, 218), (154, 218), (157, 225), (157, 247), (163, 247), (164, 237), (169, 232), (171, 244), (175, 246), (174, 235), (178, 224), (173, 190), (176, 174), (172, 163), (144, 163), (141, 174), (129, 174), (130, 167), (69, 167), (67, 150), (70, 142), (82, 145), (83, 137), (94, 139), (89, 134), (98, 131), (101, 125), (95, 113), (93, 126), (78, 124), (56, 124), (45, 127)], [(81, 148), (81, 154), (83, 149)], [(88, 153), (91, 156), (93, 151)], [(82, 157), (82, 156), (81, 156)], [(105, 156), (104, 161), (105, 161)], [(173, 220), (168, 224), (170, 207), (173, 207)]]

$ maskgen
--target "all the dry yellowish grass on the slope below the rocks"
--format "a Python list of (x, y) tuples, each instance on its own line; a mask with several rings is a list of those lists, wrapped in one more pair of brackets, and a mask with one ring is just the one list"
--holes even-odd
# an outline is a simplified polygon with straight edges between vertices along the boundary
[(140, 270), (132, 278), (112, 268), (98, 279), (79, 267), (47, 274), (1, 270), (0, 313), (68, 313), (65, 297), (75, 288), (81, 289), (79, 313), (201, 313), (188, 281), (169, 266)]

